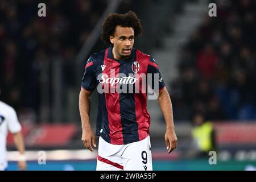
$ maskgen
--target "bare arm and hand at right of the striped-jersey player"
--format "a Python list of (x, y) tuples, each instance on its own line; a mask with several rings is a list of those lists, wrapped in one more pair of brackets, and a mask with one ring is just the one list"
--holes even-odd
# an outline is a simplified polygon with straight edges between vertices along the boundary
[(166, 87), (159, 91), (158, 102), (164, 115), (164, 120), (166, 121), (166, 134), (164, 138), (166, 140), (168, 154), (170, 154), (170, 152), (172, 152), (177, 147), (177, 137), (175, 134), (171, 98), (167, 92)]

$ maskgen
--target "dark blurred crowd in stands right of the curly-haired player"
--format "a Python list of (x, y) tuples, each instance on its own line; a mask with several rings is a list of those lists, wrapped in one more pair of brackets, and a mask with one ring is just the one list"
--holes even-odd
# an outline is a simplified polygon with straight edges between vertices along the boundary
[(256, 119), (256, 2), (215, 2), (217, 17), (205, 18), (181, 53), (171, 83), (174, 116)]

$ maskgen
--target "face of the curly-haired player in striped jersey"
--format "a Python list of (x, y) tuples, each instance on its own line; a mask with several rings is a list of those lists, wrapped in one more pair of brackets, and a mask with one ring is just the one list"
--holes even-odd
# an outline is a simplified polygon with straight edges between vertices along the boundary
[(110, 36), (110, 42), (114, 45), (113, 55), (115, 59), (123, 59), (131, 55), (134, 44), (134, 30), (131, 27), (115, 27), (114, 36)]

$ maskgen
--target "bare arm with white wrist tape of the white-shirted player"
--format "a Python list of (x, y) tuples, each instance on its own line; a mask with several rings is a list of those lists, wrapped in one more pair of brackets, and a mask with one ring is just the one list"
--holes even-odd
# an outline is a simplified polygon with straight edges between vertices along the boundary
[(27, 169), (27, 162), (25, 156), (25, 147), (24, 147), (24, 139), (22, 136), (22, 132), (18, 131), (17, 133), (13, 133), (14, 144), (19, 151), (19, 158), (18, 158), (18, 167), (21, 170)]

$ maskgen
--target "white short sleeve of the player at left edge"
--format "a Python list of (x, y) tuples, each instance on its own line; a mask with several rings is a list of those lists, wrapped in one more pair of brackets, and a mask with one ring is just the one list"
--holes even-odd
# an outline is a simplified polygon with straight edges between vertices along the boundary
[(18, 133), (22, 129), (22, 127), (20, 126), (20, 123), (18, 121), (16, 111), (13, 108), (11, 108), (9, 111), (9, 115), (7, 118), (7, 126), (8, 126), (8, 130), (12, 134)]

